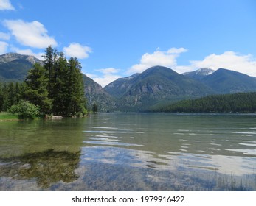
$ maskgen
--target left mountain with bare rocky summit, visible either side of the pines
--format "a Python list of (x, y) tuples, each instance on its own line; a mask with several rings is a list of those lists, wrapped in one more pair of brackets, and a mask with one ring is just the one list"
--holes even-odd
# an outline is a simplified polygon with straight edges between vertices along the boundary
[[(27, 77), (28, 71), (35, 63), (44, 63), (35, 57), (16, 53), (0, 55), (0, 82), (22, 82)], [(111, 95), (92, 79), (83, 74), (85, 94), (89, 109), (96, 103), (99, 111), (108, 111), (115, 108)]]

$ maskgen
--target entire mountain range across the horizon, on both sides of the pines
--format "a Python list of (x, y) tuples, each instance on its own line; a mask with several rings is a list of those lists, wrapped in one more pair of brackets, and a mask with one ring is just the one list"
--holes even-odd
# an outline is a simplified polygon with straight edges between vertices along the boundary
[[(42, 63), (30, 55), (8, 53), (0, 55), (0, 82), (21, 82), (33, 63)], [(144, 111), (182, 99), (256, 91), (256, 78), (237, 71), (201, 68), (178, 74), (160, 65), (141, 74), (119, 78), (102, 88), (83, 74), (87, 104), (97, 104), (100, 111)]]

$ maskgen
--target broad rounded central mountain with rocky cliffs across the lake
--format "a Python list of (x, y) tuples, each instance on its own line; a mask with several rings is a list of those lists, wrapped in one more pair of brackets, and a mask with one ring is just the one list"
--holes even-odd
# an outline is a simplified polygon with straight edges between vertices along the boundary
[[(121, 86), (123, 89), (120, 89)], [(108, 93), (117, 94), (117, 107), (120, 110), (134, 111), (148, 110), (159, 104), (214, 93), (201, 82), (162, 66), (148, 68), (134, 77), (117, 79), (105, 89)], [(117, 93), (118, 89), (125, 93)]]

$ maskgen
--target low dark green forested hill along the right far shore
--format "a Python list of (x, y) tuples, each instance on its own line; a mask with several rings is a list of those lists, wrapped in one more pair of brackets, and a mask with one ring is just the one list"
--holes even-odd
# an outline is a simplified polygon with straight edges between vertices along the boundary
[(157, 110), (170, 113), (256, 113), (256, 93), (232, 93), (188, 99)]

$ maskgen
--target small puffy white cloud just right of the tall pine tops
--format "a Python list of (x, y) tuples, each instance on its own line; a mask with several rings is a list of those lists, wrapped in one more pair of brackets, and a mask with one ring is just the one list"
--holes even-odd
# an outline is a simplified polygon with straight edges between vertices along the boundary
[(64, 53), (68, 57), (77, 57), (77, 59), (86, 59), (91, 53), (91, 48), (82, 46), (80, 43), (70, 43), (68, 47), (63, 48)]

